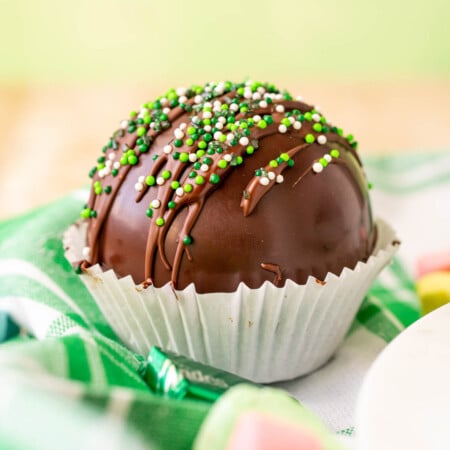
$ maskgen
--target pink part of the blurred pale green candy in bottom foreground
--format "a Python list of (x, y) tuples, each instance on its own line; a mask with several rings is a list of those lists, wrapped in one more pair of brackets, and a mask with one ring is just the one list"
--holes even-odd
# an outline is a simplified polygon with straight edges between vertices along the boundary
[(322, 450), (310, 432), (258, 412), (240, 416), (227, 450)]

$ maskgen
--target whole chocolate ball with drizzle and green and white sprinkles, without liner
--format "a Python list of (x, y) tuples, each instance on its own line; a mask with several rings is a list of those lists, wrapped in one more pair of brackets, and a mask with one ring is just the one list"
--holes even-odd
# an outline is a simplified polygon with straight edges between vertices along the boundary
[(374, 246), (353, 137), (271, 84), (169, 90), (121, 122), (91, 176), (82, 267), (144, 287), (321, 282)]

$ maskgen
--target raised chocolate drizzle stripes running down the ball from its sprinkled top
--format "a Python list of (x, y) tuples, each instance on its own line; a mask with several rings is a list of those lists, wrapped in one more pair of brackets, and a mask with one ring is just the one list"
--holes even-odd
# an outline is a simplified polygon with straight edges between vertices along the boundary
[[(198, 89), (189, 91), (186, 95), (187, 99), (184, 102), (184, 107), (175, 106), (167, 114), (164, 111), (161, 113), (160, 110), (151, 113), (159, 128), (145, 128), (148, 124), (141, 124), (145, 130), (144, 136), (142, 131), (130, 132), (129, 129), (128, 133), (116, 133), (119, 139), (114, 138), (114, 144), (106, 153), (106, 158), (109, 158), (111, 154), (120, 156), (118, 148), (123, 149), (124, 155), (129, 151), (128, 149), (136, 148), (140, 140), (139, 133), (141, 140), (142, 137), (148, 138), (147, 142), (150, 143), (150, 149), (145, 148), (145, 152), (142, 154), (132, 152), (131, 158), (136, 157), (138, 162), (132, 161), (127, 164), (125, 161), (124, 166), (118, 169), (119, 174), (115, 178), (108, 173), (106, 175), (101, 174), (100, 171), (94, 176), (94, 183), (102, 182), (105, 179), (111, 182), (112, 190), (109, 195), (105, 195), (105, 193), (95, 195), (94, 189), (91, 191), (88, 208), (91, 211), (95, 211), (96, 216), (91, 217), (89, 225), (88, 245), (90, 246), (90, 257), (87, 258), (89, 263), (95, 264), (104, 261), (104, 256), (100, 254), (104, 254), (104, 250), (100, 252), (99, 248), (100, 236), (102, 236), (104, 226), (108, 222), (112, 206), (117, 194), (122, 189), (122, 185), (125, 182), (127, 186), (133, 183), (130, 181), (132, 174), (136, 173), (133, 166), (139, 168), (141, 165), (145, 165), (148, 168), (147, 173), (144, 175), (145, 177), (161, 180), (158, 183), (141, 183), (142, 188), (138, 189), (134, 198), (137, 204), (148, 201), (148, 198), (151, 199), (150, 207), (147, 210), (149, 218), (146, 218), (148, 225), (143, 286), (147, 287), (155, 283), (161, 285), (161, 281), (155, 277), (160, 277), (161, 268), (158, 267), (162, 265), (161, 267), (164, 267), (164, 270), (170, 273), (170, 282), (173, 288), (178, 288), (178, 278), (180, 270), (182, 270), (184, 255), (186, 254), (188, 261), (196, 262), (195, 251), (188, 251), (188, 246), (192, 241), (191, 233), (193, 228), (202, 214), (207, 199), (217, 188), (222, 189), (222, 186), (228, 183), (225, 183), (225, 180), (228, 179), (231, 173), (238, 171), (242, 164), (245, 164), (244, 160), (251, 160), (253, 152), (261, 152), (258, 149), (261, 142), (271, 139), (273, 136), (286, 133), (283, 126), (287, 129), (286, 135), (294, 145), (289, 150), (284, 150), (285, 146), (280, 148), (280, 157), (287, 155), (288, 159), (280, 159), (279, 157), (273, 160), (270, 159), (273, 156), (268, 157), (266, 165), (256, 170), (254, 176), (247, 182), (240, 202), (242, 213), (245, 217), (255, 211), (255, 208), (269, 191), (276, 188), (277, 184), (283, 182), (283, 176), (281, 175), (285, 171), (288, 173), (294, 163), (297, 164), (299, 162), (300, 164), (300, 161), (297, 161), (300, 154), (306, 152), (309, 148), (318, 147), (318, 144), (313, 142), (318, 140), (320, 136), (327, 135), (329, 143), (334, 142), (341, 150), (350, 152), (353, 155), (353, 159), (359, 163), (356, 152), (353, 146), (350, 145), (350, 140), (342, 137), (342, 133), (338, 129), (328, 125), (323, 117), (310, 106), (303, 102), (280, 98), (281, 94), (278, 91), (271, 93), (271, 97), (264, 97), (272, 99), (271, 102), (261, 101), (260, 98), (246, 100), (246, 97), (238, 93), (238, 89), (242, 88), (242, 86), (244, 85), (232, 85), (228, 91), (225, 90), (225, 92), (218, 95), (212, 95), (211, 90), (207, 91), (206, 88), (201, 94), (197, 93), (199, 92)], [(200, 101), (198, 101), (199, 96), (201, 97)], [(178, 98), (181, 97), (179, 96)], [(239, 99), (240, 103), (236, 103), (235, 99)], [(211, 107), (205, 105), (214, 105), (214, 102), (219, 102), (221, 109), (213, 114)], [(263, 105), (263, 103), (266, 103), (266, 105)], [(227, 107), (224, 108), (222, 105)], [(236, 111), (231, 113), (232, 105), (239, 105), (239, 111), (234, 107)], [(242, 107), (242, 105), (245, 105), (245, 107)], [(227, 111), (227, 113), (222, 113), (222, 110)], [(176, 128), (179, 130), (178, 135), (183, 136), (184, 140), (183, 138), (177, 138), (176, 135), (174, 138), (172, 131), (168, 127), (165, 127), (166, 129), (160, 127), (160, 123), (164, 121), (158, 122), (157, 120), (159, 119), (157, 118), (162, 117), (163, 114), (167, 116), (167, 123), (172, 124), (172, 131), (175, 128), (175, 123), (178, 124), (178, 127), (181, 127), (181, 124), (185, 124), (184, 131), (181, 128)], [(227, 122), (221, 122), (222, 126), (219, 128), (217, 125), (216, 128), (213, 125), (219, 122), (216, 121), (209, 125), (211, 123), (210, 117), (225, 117)], [(150, 123), (152, 123), (151, 120)], [(139, 124), (139, 119), (137, 123)], [(222, 132), (219, 132), (220, 130)], [(192, 132), (192, 135), (198, 135), (197, 142), (189, 144), (187, 139), (190, 135), (187, 132)], [(120, 137), (120, 134), (123, 136)], [(220, 139), (219, 135), (226, 135), (227, 139)], [(231, 138), (230, 135), (232, 135)], [(209, 136), (208, 139), (206, 139), (207, 136)], [(313, 136), (313, 138), (310, 136)], [(153, 143), (157, 138), (164, 138), (164, 141), (158, 141), (159, 144), (155, 146)], [(180, 142), (177, 142), (177, 139)], [(324, 137), (321, 139), (322, 141), (327, 141)], [(162, 146), (170, 145), (171, 151), (162, 152), (161, 142)], [(202, 147), (199, 144), (201, 142), (204, 143), (204, 150), (202, 151)], [(333, 147), (330, 144), (322, 145), (322, 147), (323, 153), (329, 157), (327, 152), (330, 152)], [(181, 155), (187, 156), (182, 158)], [(114, 157), (111, 158), (114, 160)], [(295, 178), (289, 182), (292, 189), (307, 174), (313, 174), (313, 164), (318, 164), (318, 161), (323, 159), (317, 158), (317, 156), (309, 158), (309, 160), (308, 158), (301, 158), (299, 169), (295, 170)], [(149, 159), (151, 160), (150, 164), (148, 162)], [(258, 159), (261, 159), (261, 156)], [(328, 162), (347, 164), (346, 161), (348, 161), (347, 157), (342, 161), (336, 158), (331, 161), (331, 157), (329, 157)], [(324, 167), (326, 167), (326, 164)], [(301, 171), (300, 176), (298, 175), (299, 170)], [(258, 171), (263, 174), (272, 174), (269, 181), (263, 183), (261, 175), (257, 173)], [(167, 179), (162, 178), (163, 172), (167, 174)], [(173, 183), (175, 183), (175, 186)], [(130, 199), (130, 201), (132, 200)], [(366, 207), (365, 202), (363, 207)], [(181, 214), (182, 212), (183, 214)], [(175, 245), (168, 245), (169, 231), (174, 222), (181, 216), (182, 222), (177, 225)], [(195, 246), (195, 242), (193, 245)], [(170, 248), (169, 253), (167, 248)], [(275, 273), (275, 285), (278, 286), (283, 282), (281, 270), (277, 264), (263, 263), (261, 268)], [(186, 282), (183, 281), (182, 284), (184, 286)]]

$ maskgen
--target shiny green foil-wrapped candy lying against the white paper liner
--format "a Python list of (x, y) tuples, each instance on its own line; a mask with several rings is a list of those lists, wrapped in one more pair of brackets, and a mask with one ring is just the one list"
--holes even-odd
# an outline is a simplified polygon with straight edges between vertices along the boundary
[(159, 347), (152, 347), (144, 379), (159, 395), (216, 401), (232, 386), (251, 381)]

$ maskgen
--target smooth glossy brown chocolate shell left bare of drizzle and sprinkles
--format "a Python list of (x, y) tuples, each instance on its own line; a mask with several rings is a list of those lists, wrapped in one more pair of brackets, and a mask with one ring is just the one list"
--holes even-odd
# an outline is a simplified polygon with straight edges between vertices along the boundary
[[(303, 103), (297, 106), (311, 108)], [(113, 180), (110, 199), (96, 201), (98, 218), (90, 219), (87, 239), (88, 245), (96, 248), (90, 263), (98, 262), (118, 276), (131, 275), (136, 283), (148, 278), (145, 267), (151, 219), (146, 210), (152, 200), (161, 198), (161, 188), (148, 189), (137, 202), (135, 183), (140, 175), (150, 173), (155, 164), (152, 156), (163, 154), (174, 128), (188, 123), (189, 116), (179, 115), (137, 165)], [(258, 288), (265, 281), (282, 286), (287, 279), (299, 284), (308, 276), (323, 280), (328, 272), (339, 275), (344, 267), (352, 269), (358, 261), (366, 261), (376, 234), (367, 181), (355, 150), (335, 133), (328, 133), (325, 145), (313, 143), (298, 151), (292, 157), (295, 165), (282, 172), (284, 181), (268, 189), (251, 213), (243, 213), (243, 191), (255, 170), (280, 153), (305, 144), (311, 126), (305, 122), (299, 131), (261, 137), (258, 150), (202, 198), (189, 233), (193, 242), (185, 247), (175, 277), (156, 249), (151, 283), (160, 287), (172, 280), (177, 289), (194, 283), (200, 293), (231, 292), (240, 282)], [(119, 138), (119, 147), (130, 139), (129, 135)], [(311, 170), (314, 161), (333, 148), (339, 149), (339, 158), (321, 173)], [(188, 208), (181, 208), (166, 230), (163, 247), (170, 264), (183, 239), (187, 214)]]

